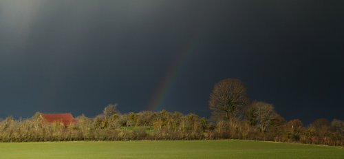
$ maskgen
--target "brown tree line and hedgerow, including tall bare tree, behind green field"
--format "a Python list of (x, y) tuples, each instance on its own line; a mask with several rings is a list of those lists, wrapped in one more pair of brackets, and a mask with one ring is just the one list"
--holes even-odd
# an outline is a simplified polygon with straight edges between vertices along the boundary
[(344, 146), (344, 121), (325, 118), (304, 126), (285, 120), (270, 103), (248, 99), (244, 83), (225, 79), (214, 86), (210, 119), (197, 114), (144, 111), (121, 114), (117, 105), (94, 118), (77, 116), (65, 127), (47, 123), (37, 112), (31, 118), (0, 122), (0, 142), (67, 140), (214, 140), (244, 139)]

